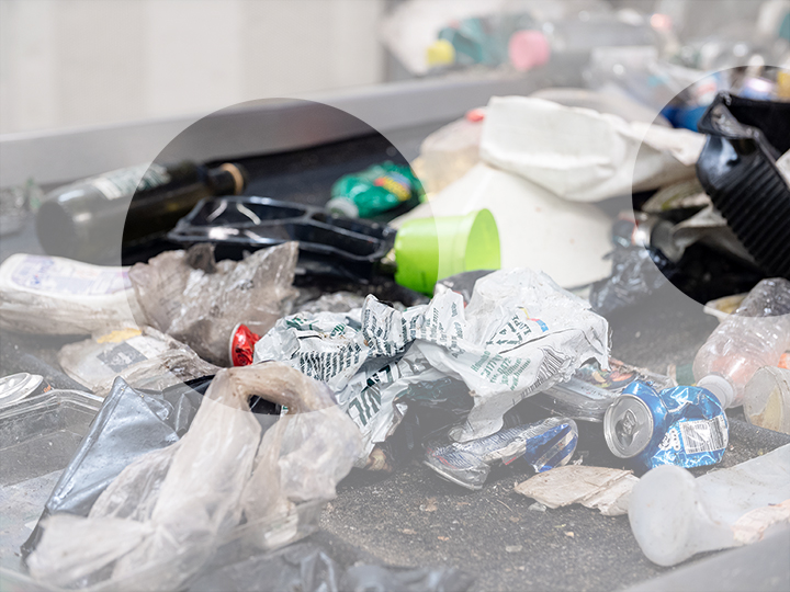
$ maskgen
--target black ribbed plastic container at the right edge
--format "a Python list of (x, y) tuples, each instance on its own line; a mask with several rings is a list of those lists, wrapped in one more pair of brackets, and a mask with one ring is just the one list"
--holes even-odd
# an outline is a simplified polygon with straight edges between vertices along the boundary
[(790, 103), (720, 93), (698, 127), (700, 183), (763, 271), (790, 278), (790, 186), (776, 166), (790, 150)]

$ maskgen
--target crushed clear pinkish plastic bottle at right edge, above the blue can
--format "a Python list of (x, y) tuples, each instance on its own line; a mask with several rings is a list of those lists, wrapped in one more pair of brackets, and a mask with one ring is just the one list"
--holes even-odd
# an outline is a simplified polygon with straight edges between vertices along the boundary
[(743, 402), (744, 387), (763, 366), (776, 366), (790, 346), (790, 282), (763, 280), (697, 352), (697, 384), (724, 407)]

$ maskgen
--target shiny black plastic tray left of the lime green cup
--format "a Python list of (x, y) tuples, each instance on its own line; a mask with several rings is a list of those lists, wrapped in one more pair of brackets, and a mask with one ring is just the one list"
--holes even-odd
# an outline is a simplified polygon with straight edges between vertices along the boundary
[(212, 242), (217, 259), (289, 240), (300, 243), (300, 264), (309, 273), (366, 278), (395, 242), (395, 229), (342, 218), (320, 208), (269, 197), (203, 200), (179, 220), (168, 238), (191, 246)]

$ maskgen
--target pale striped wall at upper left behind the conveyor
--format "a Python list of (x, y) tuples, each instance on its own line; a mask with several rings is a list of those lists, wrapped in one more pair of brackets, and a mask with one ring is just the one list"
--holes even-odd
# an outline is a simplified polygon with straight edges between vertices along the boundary
[(0, 134), (381, 82), (384, 0), (0, 0)]

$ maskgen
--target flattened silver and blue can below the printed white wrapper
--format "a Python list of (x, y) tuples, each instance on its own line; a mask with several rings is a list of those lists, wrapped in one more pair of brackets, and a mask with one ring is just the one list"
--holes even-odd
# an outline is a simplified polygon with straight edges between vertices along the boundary
[(469, 442), (430, 443), (424, 464), (448, 481), (476, 490), (494, 464), (509, 465), (523, 458), (543, 473), (566, 465), (577, 442), (578, 428), (572, 419), (549, 418)]

